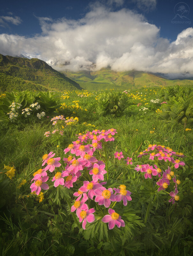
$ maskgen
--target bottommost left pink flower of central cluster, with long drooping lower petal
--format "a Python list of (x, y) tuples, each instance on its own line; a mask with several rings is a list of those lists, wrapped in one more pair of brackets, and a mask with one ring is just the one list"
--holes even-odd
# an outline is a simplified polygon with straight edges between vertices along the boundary
[(82, 222), (82, 228), (86, 229), (86, 224), (87, 221), (89, 223), (95, 221), (95, 215), (93, 214), (95, 212), (94, 208), (89, 209), (89, 207), (87, 206), (87, 204), (84, 204), (81, 206), (81, 212), (79, 214), (77, 214), (77, 216), (79, 217), (79, 222)]

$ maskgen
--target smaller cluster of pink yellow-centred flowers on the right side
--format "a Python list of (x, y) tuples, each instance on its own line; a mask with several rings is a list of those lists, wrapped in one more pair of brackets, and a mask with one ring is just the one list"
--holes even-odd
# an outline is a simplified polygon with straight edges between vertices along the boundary
[[(151, 179), (152, 175), (158, 177), (159, 180), (156, 182), (158, 191), (165, 190), (170, 184), (173, 184), (175, 191), (169, 193), (172, 197), (169, 199), (169, 202), (172, 201), (174, 204), (174, 200), (179, 200), (179, 196), (177, 195), (177, 185), (180, 184), (180, 180), (176, 179), (176, 176), (179, 176), (179, 174), (177, 174), (177, 169), (180, 166), (185, 166), (185, 163), (178, 158), (183, 158), (184, 154), (174, 152), (171, 148), (163, 145), (150, 144), (147, 149), (139, 153), (138, 158), (142, 158), (142, 156), (149, 156), (149, 160), (152, 160), (154, 164), (137, 165), (135, 170), (137, 172), (141, 171), (142, 173), (145, 173), (145, 179)], [(177, 159), (174, 159), (174, 157), (177, 157)], [(166, 162), (167, 166), (167, 169), (165, 170), (162, 170), (164, 167), (163, 161)], [(173, 182), (171, 182), (171, 180), (173, 180)]]

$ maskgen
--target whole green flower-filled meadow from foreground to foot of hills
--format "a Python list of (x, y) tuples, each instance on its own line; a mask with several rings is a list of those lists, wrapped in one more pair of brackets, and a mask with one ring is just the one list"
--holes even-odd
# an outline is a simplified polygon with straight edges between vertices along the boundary
[(190, 88), (0, 94), (3, 256), (190, 256)]

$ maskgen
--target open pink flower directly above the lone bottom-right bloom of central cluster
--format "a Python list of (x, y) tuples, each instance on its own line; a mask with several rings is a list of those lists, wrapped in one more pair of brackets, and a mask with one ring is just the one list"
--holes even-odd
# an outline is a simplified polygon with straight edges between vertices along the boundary
[(99, 205), (104, 205), (108, 208), (111, 204), (111, 201), (115, 201), (115, 195), (113, 195), (112, 188), (106, 189), (104, 187), (100, 187), (99, 189), (95, 190), (96, 198), (95, 202)]

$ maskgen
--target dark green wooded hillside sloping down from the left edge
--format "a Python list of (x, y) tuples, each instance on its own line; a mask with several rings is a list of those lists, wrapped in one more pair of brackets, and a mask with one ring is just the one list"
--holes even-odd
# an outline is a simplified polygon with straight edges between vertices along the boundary
[(0, 54), (0, 90), (82, 89), (80, 85), (37, 58)]

